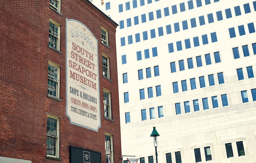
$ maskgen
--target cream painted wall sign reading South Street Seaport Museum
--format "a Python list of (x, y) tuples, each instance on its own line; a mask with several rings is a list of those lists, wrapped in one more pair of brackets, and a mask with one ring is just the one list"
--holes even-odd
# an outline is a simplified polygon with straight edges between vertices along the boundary
[(71, 124), (101, 126), (98, 40), (74, 19), (66, 19), (66, 115)]

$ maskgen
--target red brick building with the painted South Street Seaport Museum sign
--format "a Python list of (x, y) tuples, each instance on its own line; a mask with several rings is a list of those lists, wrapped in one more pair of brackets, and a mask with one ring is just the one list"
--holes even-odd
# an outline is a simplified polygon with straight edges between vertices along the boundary
[(88, 0), (0, 7), (0, 162), (121, 162), (118, 25)]

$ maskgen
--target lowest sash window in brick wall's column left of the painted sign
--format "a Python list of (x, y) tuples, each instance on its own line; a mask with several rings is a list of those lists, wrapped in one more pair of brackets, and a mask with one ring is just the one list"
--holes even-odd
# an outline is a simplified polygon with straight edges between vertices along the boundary
[(47, 114), (47, 156), (59, 158), (60, 118)]

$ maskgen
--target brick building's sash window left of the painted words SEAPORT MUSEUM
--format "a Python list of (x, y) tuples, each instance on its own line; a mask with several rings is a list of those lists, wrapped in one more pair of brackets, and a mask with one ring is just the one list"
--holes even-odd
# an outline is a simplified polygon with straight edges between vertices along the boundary
[(48, 95), (60, 97), (60, 66), (50, 61), (48, 63)]

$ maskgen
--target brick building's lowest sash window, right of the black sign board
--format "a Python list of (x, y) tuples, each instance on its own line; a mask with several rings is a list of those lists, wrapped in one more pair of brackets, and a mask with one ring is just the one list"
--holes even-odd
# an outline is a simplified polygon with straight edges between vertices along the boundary
[(105, 133), (106, 163), (114, 162), (113, 159), (113, 135)]

